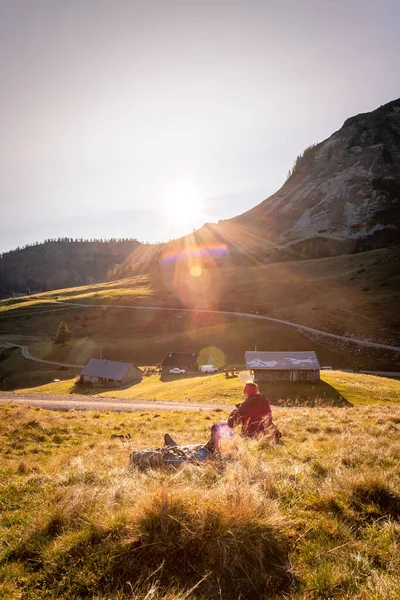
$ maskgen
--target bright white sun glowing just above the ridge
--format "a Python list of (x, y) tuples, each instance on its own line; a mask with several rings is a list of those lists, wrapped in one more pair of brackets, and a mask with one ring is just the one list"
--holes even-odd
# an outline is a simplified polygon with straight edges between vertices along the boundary
[(171, 188), (165, 196), (166, 218), (171, 224), (187, 231), (200, 225), (204, 214), (203, 209), (200, 193), (189, 182), (182, 182)]

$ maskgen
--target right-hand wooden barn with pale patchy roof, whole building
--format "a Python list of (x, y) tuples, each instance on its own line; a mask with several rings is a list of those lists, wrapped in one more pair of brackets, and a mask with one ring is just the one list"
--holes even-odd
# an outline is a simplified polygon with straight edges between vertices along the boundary
[(315, 352), (246, 352), (246, 369), (254, 381), (319, 381)]

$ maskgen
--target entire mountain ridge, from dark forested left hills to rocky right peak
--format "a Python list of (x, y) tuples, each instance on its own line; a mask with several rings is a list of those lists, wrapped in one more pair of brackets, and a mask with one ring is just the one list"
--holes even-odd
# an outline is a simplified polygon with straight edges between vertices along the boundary
[[(178, 240), (162, 244), (122, 240), (114, 246), (52, 241), (3, 253), (0, 295), (145, 273), (164, 268), (171, 264), (165, 257), (180, 254), (196, 264), (211, 261), (217, 266), (352, 254), (396, 245), (399, 232), (400, 99), (396, 99), (349, 117), (326, 140), (306, 148), (281, 188), (255, 207), (218, 224), (206, 223)], [(216, 247), (226, 251), (218, 253)], [(204, 250), (202, 256), (199, 249)]]

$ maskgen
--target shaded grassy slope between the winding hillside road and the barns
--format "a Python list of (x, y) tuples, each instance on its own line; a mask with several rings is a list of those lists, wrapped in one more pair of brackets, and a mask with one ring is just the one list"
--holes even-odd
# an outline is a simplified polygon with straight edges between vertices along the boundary
[[(71, 341), (54, 344), (60, 320), (67, 322)], [(137, 365), (158, 364), (168, 352), (205, 352), (212, 362), (239, 365), (244, 353), (259, 350), (315, 350), (322, 365), (336, 368), (396, 370), (398, 353), (375, 351), (352, 344), (310, 339), (298, 330), (270, 322), (222, 315), (185, 314), (169, 311), (129, 310), (108, 307), (74, 308), (10, 319), (0, 318), (0, 338), (27, 345), (33, 356), (50, 361), (85, 365), (100, 352), (109, 360)], [(77, 371), (76, 371), (77, 372)], [(0, 348), (0, 389), (13, 390), (72, 377), (61, 367), (35, 365), (6, 356)]]

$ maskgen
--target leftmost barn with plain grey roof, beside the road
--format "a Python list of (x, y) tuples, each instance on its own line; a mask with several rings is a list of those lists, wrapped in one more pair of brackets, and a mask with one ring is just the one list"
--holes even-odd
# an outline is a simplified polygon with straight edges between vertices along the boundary
[(131, 363), (91, 358), (80, 373), (81, 383), (105, 387), (127, 385), (141, 381), (142, 371)]

